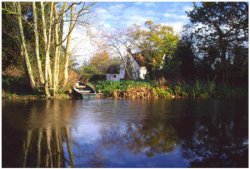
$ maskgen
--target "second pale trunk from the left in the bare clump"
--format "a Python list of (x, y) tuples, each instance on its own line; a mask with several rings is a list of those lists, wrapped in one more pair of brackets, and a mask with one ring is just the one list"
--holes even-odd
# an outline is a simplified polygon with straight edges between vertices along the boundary
[(37, 29), (37, 15), (36, 15), (36, 3), (32, 3), (33, 7), (33, 19), (34, 19), (34, 32), (35, 32), (35, 48), (36, 48), (36, 60), (37, 60), (37, 66), (38, 66), (38, 73), (40, 77), (40, 82), (44, 84), (44, 77), (43, 77), (43, 70), (42, 70), (42, 64), (40, 60), (40, 53), (39, 53), (39, 36), (38, 36), (38, 29)]

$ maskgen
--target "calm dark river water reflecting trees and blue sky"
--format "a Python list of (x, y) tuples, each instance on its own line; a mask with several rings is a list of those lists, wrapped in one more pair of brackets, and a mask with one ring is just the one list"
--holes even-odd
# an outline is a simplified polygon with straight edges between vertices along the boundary
[(247, 167), (247, 100), (3, 102), (3, 167)]

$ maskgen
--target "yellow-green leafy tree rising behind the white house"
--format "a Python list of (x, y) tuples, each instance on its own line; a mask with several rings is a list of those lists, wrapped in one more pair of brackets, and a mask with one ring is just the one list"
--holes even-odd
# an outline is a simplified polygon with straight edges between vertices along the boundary
[(168, 64), (175, 63), (172, 60), (174, 60), (179, 37), (170, 26), (154, 24), (153, 21), (147, 21), (145, 26), (148, 30), (140, 26), (131, 28), (130, 36), (133, 48), (140, 51), (146, 61), (148, 74), (153, 78), (160, 76), (161, 70), (166, 68), (164, 56), (168, 57)]

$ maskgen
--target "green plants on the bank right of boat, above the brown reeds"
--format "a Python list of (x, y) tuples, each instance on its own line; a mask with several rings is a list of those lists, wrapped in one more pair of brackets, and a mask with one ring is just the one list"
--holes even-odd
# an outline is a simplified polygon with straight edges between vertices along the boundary
[(112, 96), (113, 92), (124, 92), (130, 88), (146, 87), (153, 89), (155, 97), (191, 97), (191, 98), (214, 98), (214, 97), (242, 97), (247, 95), (247, 89), (222, 87), (214, 81), (205, 82), (196, 80), (195, 83), (169, 83), (168, 87), (154, 86), (152, 82), (143, 81), (99, 81), (96, 84), (97, 91), (105, 96)]

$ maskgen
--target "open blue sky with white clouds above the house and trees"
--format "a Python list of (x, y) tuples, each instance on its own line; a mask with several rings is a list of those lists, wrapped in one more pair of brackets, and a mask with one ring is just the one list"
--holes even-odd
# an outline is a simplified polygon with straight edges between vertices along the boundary
[(99, 24), (107, 29), (126, 29), (150, 19), (180, 32), (182, 25), (189, 21), (185, 11), (192, 6), (191, 2), (98, 2), (92, 11)]

